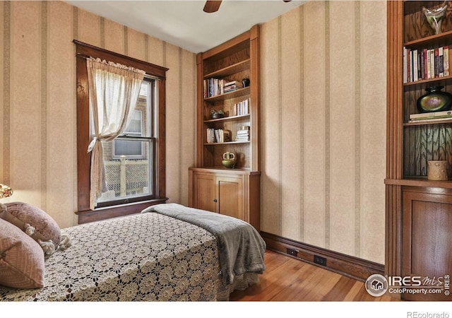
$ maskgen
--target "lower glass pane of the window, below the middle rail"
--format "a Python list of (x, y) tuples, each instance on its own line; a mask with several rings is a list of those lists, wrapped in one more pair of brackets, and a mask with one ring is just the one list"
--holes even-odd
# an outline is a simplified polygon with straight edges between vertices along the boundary
[[(122, 143), (123, 140), (119, 142)], [(153, 140), (128, 140), (124, 143), (138, 145), (138, 148), (146, 151), (146, 155), (142, 159), (130, 159), (125, 156), (113, 159), (106, 152), (108, 148), (112, 148), (112, 142), (102, 143), (104, 146), (105, 181), (108, 191), (102, 194), (102, 198), (98, 201), (153, 195), (154, 184), (151, 178), (152, 171), (150, 171), (153, 162), (149, 159), (153, 158)]]

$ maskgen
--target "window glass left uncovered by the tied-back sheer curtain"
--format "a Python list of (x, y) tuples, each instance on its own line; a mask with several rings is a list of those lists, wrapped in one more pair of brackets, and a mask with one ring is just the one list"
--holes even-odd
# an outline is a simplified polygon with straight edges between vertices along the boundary
[(102, 142), (107, 192), (97, 206), (155, 199), (155, 81), (145, 76), (131, 122), (116, 139)]

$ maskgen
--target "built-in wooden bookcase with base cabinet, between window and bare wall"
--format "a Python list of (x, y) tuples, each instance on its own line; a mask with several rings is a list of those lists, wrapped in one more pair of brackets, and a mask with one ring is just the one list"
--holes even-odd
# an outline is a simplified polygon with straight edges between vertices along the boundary
[[(196, 167), (189, 168), (189, 206), (234, 216), (260, 228), (259, 25), (196, 56)], [(249, 86), (239, 87), (249, 78)], [(208, 83), (237, 82), (227, 92), (208, 93)], [(216, 86), (218, 87), (218, 86)], [(243, 105), (246, 107), (243, 107)], [(241, 105), (237, 111), (237, 105)], [(212, 111), (225, 117), (211, 118)], [(228, 141), (210, 141), (208, 129), (230, 132)], [(249, 130), (248, 139), (238, 139)], [(222, 166), (234, 153), (234, 168)]]

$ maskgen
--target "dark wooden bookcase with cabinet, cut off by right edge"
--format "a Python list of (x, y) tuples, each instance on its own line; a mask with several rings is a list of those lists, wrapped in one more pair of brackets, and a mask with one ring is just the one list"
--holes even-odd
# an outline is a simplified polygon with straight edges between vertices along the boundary
[[(388, 1), (386, 264), (388, 276), (439, 278), (452, 272), (452, 120), (410, 122), (430, 86), (452, 93), (452, 76), (404, 81), (405, 49), (452, 47), (452, 3), (435, 35), (422, 7), (443, 1)], [(405, 51), (406, 52), (406, 51)], [(406, 82), (406, 83), (405, 83)], [(427, 179), (428, 160), (447, 160), (448, 181)], [(444, 283), (443, 283), (444, 284)], [(451, 300), (442, 293), (406, 300)]]

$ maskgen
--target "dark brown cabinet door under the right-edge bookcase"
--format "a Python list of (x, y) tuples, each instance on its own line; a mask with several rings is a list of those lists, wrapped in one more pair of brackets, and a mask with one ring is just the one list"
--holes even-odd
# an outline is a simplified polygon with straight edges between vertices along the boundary
[(445, 283), (452, 273), (452, 196), (405, 191), (402, 218), (403, 276), (420, 276), (422, 285), (439, 292), (406, 293), (403, 299), (451, 300)]

